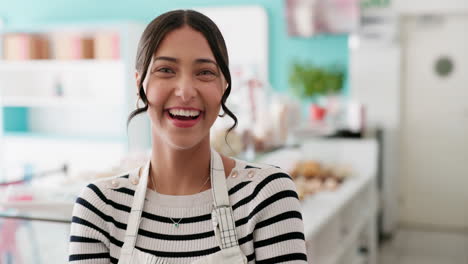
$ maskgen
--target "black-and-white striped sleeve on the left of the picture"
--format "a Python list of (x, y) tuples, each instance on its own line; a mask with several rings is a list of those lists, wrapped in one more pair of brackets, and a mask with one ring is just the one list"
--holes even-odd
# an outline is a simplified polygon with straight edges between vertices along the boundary
[(94, 184), (83, 189), (73, 208), (69, 263), (110, 263), (107, 198)]

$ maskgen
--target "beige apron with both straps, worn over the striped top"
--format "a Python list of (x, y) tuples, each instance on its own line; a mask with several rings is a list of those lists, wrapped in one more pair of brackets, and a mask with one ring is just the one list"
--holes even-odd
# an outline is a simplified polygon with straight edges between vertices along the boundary
[[(118, 264), (170, 264), (170, 262), (135, 248), (148, 186), (149, 165), (150, 163), (148, 162), (135, 191), (132, 209), (127, 223), (125, 241)], [(214, 254), (201, 257), (192, 262), (192, 264), (247, 263), (247, 258), (242, 253), (237, 241), (235, 221), (232, 214), (232, 207), (229, 204), (223, 162), (221, 156), (214, 150), (211, 150), (210, 168), (211, 189), (213, 194), (211, 219), (213, 221), (215, 237), (221, 250)]]

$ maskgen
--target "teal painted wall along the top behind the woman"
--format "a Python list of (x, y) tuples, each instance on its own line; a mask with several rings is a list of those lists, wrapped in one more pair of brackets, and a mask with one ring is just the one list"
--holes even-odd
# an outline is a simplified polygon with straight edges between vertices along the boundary
[(103, 20), (147, 23), (171, 9), (232, 5), (259, 5), (266, 9), (269, 19), (269, 78), (275, 90), (288, 91), (289, 69), (295, 60), (318, 65), (342, 64), (347, 67), (347, 35), (289, 37), (283, 0), (16, 0), (0, 5), (0, 18), (13, 27)]

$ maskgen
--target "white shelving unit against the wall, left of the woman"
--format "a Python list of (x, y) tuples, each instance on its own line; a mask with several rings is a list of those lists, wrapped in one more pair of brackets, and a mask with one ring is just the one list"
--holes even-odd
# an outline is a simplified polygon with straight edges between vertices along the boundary
[(0, 32), (112, 32), (119, 39), (116, 59), (0, 59), (0, 181), (14, 178), (8, 171), (25, 164), (37, 171), (60, 163), (71, 172), (95, 170), (149, 147), (147, 120), (132, 122), (128, 136), (126, 128), (135, 107), (135, 57), (144, 27), (119, 22)]

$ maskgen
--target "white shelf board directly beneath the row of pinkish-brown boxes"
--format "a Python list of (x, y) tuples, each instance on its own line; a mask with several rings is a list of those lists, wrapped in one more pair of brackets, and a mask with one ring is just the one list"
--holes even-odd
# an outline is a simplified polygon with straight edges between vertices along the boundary
[(0, 71), (95, 71), (99, 69), (121, 70), (123, 67), (124, 62), (122, 60), (0, 60)]

